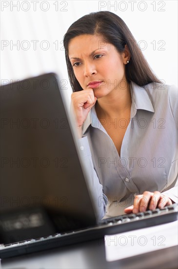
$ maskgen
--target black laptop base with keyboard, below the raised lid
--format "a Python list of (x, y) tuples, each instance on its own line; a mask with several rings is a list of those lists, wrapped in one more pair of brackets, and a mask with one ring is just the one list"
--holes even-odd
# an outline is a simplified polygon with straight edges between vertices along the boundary
[(129, 230), (165, 224), (176, 220), (178, 220), (178, 204), (174, 203), (162, 209), (157, 208), (152, 211), (147, 210), (137, 214), (124, 214), (103, 219), (98, 225), (88, 228), (57, 233), (8, 245), (1, 244), (0, 258), (9, 258), (84, 241), (103, 239), (104, 235), (117, 234)]

